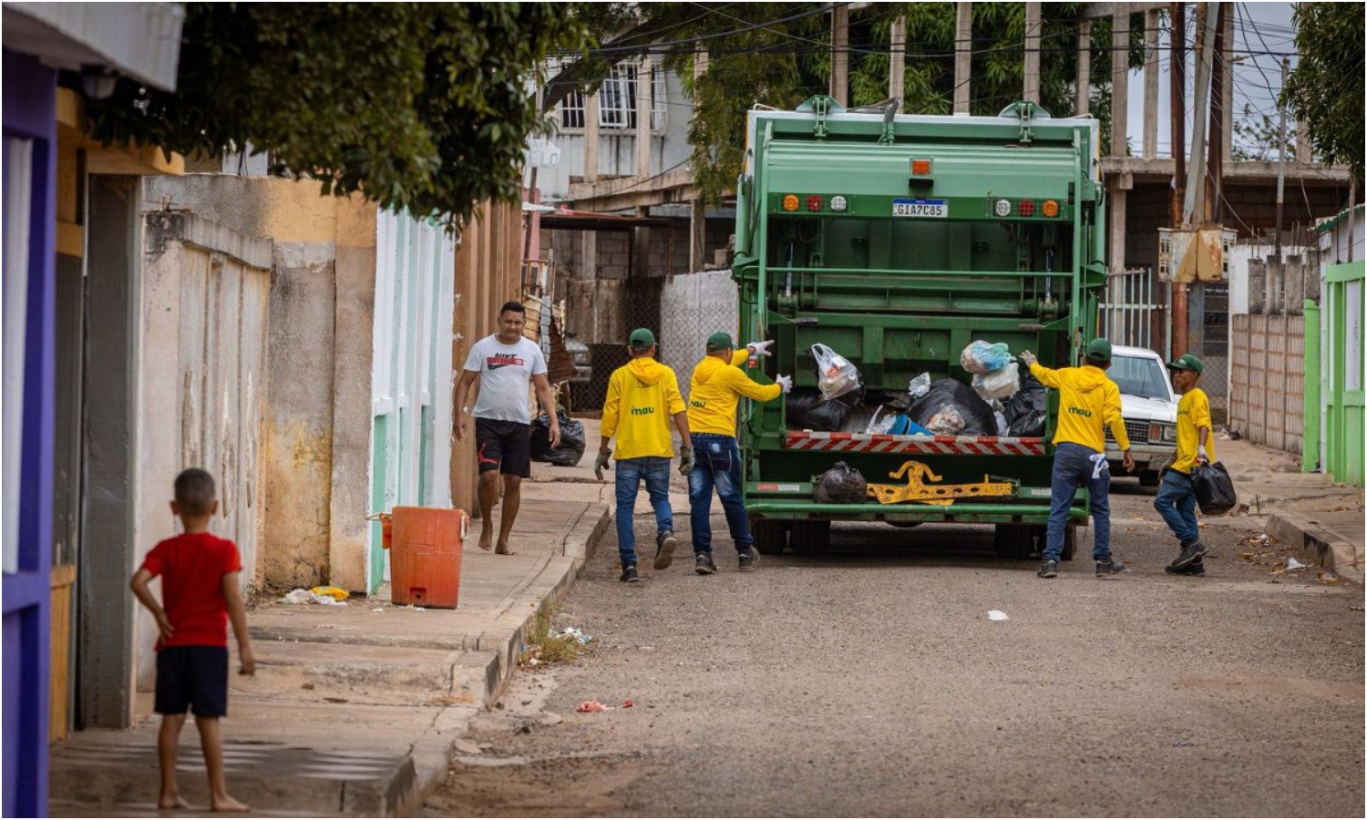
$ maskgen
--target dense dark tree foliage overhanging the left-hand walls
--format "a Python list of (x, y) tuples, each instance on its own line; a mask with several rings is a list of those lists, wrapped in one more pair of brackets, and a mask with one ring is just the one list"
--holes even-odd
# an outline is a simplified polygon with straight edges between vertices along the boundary
[(519, 195), (547, 53), (580, 48), (556, 3), (189, 3), (176, 90), (123, 79), (96, 139), (187, 156), (269, 152), (275, 172), (387, 208), (468, 217)]

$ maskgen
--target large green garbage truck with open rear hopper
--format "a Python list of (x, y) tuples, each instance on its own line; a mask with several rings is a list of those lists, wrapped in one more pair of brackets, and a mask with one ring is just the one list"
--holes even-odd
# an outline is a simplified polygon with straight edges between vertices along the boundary
[[(980, 368), (962, 354), (975, 342), (1032, 350), (1051, 368), (1080, 362), (1106, 283), (1099, 139), (1095, 119), (1051, 118), (1032, 102), (998, 116), (908, 116), (817, 96), (748, 113), (733, 277), (741, 338), (775, 344), (745, 366), (759, 381), (794, 379), (783, 400), (740, 409), (761, 552), (822, 551), (842, 521), (988, 523), (1002, 556), (1043, 547), (1057, 395), (1031, 435), (1010, 435), (997, 413), (992, 429), (898, 432), (868, 409), (889, 402), (875, 410), (884, 421), (905, 414), (917, 377), (942, 394), (945, 380), (971, 390)], [(819, 362), (830, 354), (835, 368)], [(863, 387), (827, 399), (820, 366), (857, 370)], [(843, 425), (811, 424), (813, 411), (843, 414)], [(863, 476), (867, 495), (817, 497), (837, 462)], [(1088, 503), (1079, 492), (1069, 511), (1065, 559)]]

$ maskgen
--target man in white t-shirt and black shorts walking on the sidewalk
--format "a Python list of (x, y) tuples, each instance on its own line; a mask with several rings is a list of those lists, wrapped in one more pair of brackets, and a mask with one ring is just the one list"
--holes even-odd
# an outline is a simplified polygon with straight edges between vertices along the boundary
[(470, 346), (465, 372), (455, 384), (455, 437), (465, 440), (465, 405), (470, 385), (480, 381), (474, 402), (474, 461), (480, 467), (480, 549), (493, 544), (493, 506), (499, 500), (498, 476), (503, 476), (503, 518), (495, 552), (513, 555), (509, 533), (522, 502), (522, 478), (532, 476), (532, 409), (528, 406), (528, 383), (536, 385), (536, 398), (551, 420), (551, 447), (560, 444), (560, 420), (555, 414), (555, 395), (545, 377), (545, 357), (534, 342), (522, 336), (526, 310), (518, 302), (506, 302), (499, 310), (499, 332)]

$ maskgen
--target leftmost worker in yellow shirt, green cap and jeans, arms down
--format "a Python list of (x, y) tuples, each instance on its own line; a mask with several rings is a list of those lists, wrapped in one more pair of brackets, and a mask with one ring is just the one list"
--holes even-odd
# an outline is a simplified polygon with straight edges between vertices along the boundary
[(636, 533), (632, 514), (636, 493), (645, 480), (645, 492), (655, 510), (655, 569), (663, 570), (674, 560), (674, 510), (670, 508), (670, 420), (679, 430), (679, 470), (693, 466), (689, 446), (688, 413), (674, 370), (655, 361), (655, 333), (647, 328), (632, 331), (627, 340), (632, 361), (612, 372), (603, 402), (597, 461), (593, 473), (603, 480), (603, 467), (612, 455), (610, 443), (617, 436), (617, 549), (622, 559), (623, 582), (634, 584)]

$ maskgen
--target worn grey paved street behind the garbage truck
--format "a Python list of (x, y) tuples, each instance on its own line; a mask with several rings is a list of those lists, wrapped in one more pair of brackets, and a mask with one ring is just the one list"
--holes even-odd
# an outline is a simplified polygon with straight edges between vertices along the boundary
[(723, 538), (718, 575), (685, 549), (622, 585), (608, 534), (559, 616), (592, 651), (519, 670), (427, 812), (1362, 816), (1362, 588), (1222, 525), (1206, 578), (1165, 575), (1151, 492), (1117, 487), (1114, 581), (1038, 579), (987, 528), (846, 525), (828, 556), (741, 575)]

